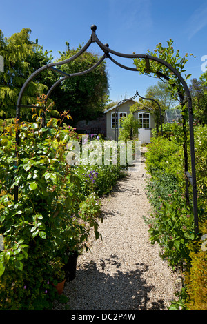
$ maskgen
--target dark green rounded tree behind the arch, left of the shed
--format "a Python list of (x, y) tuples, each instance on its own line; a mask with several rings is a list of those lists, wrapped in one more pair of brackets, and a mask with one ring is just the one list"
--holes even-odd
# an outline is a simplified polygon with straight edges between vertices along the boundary
[[(59, 52), (57, 61), (63, 61), (81, 50), (70, 49), (66, 42), (66, 52)], [(61, 70), (68, 74), (88, 70), (99, 61), (99, 57), (91, 52), (83, 52), (80, 57), (68, 64), (61, 65)], [(108, 75), (106, 63), (101, 63), (95, 70), (82, 76), (71, 77), (57, 86), (51, 94), (56, 109), (60, 112), (69, 110), (74, 122), (81, 119), (94, 119), (103, 112), (108, 101)]]

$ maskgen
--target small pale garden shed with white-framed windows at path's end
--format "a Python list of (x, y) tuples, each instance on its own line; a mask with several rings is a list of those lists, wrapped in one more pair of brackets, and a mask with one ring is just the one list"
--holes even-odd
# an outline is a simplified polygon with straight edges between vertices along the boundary
[[(135, 100), (128, 100), (119, 105), (119, 110), (116, 112), (117, 105), (114, 105), (108, 110), (105, 110), (106, 114), (106, 139), (115, 140), (115, 123), (118, 124), (118, 131), (121, 127), (120, 120), (122, 117), (127, 117), (130, 113), (130, 108), (135, 104)], [(155, 121), (153, 119), (150, 110), (139, 110), (135, 112), (135, 117), (139, 119), (139, 140), (142, 143), (150, 143), (152, 136), (152, 129), (155, 128)]]

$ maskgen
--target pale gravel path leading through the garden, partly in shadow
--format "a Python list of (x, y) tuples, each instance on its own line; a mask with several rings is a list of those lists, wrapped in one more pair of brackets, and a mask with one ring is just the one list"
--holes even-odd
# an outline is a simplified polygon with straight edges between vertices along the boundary
[(139, 172), (102, 199), (103, 240), (92, 234), (91, 252), (79, 256), (76, 278), (65, 285), (70, 310), (167, 310), (174, 297), (177, 274), (160, 258), (159, 246), (150, 244), (144, 223), (150, 204), (143, 157), (141, 162)]

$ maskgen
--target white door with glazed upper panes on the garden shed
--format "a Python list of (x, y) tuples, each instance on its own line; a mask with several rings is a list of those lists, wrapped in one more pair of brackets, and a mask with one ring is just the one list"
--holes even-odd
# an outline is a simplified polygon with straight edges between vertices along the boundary
[(139, 141), (142, 143), (150, 143), (150, 113), (139, 112)]

